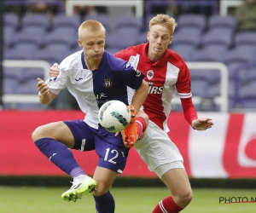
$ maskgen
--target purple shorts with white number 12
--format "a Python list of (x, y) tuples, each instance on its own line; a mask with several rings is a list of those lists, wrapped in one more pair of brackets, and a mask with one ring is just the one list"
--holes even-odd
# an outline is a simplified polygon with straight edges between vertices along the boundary
[(98, 166), (123, 173), (129, 148), (126, 148), (121, 134), (115, 136), (99, 126), (96, 130), (84, 123), (83, 120), (65, 121), (71, 130), (75, 145), (73, 149), (82, 152), (96, 150), (99, 156)]

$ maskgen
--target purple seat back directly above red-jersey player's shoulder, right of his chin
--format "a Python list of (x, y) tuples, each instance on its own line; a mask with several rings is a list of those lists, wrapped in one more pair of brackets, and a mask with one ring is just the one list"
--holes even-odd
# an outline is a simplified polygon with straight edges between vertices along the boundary
[(188, 43), (179, 43), (174, 46), (171, 45), (170, 49), (180, 55), (185, 61), (191, 61), (193, 59), (192, 55), (196, 51), (195, 46)]

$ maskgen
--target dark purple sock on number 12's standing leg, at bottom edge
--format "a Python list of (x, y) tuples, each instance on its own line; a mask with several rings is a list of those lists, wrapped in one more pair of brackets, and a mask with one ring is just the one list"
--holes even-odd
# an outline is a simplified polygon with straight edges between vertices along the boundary
[(108, 193), (103, 194), (102, 196), (94, 196), (96, 202), (97, 213), (113, 213), (114, 212), (114, 199), (112, 194)]

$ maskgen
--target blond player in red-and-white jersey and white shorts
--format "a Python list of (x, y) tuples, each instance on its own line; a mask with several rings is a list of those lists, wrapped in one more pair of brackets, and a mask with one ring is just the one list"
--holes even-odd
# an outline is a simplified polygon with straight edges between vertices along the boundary
[[(115, 54), (143, 72), (146, 76), (144, 80), (149, 86), (143, 111), (137, 113), (137, 118), (148, 114), (148, 127), (134, 147), (148, 164), (148, 169), (160, 177), (172, 194), (162, 199), (152, 213), (180, 212), (193, 197), (189, 178), (183, 166), (183, 157), (167, 135), (167, 120), (176, 90), (181, 99), (184, 118), (194, 130), (207, 130), (213, 125), (211, 118), (197, 117), (192, 101), (188, 66), (180, 55), (168, 49), (176, 26), (173, 18), (166, 14), (158, 14), (149, 21), (148, 43), (123, 49)], [(50, 76), (58, 73), (52, 66)], [(136, 122), (138, 126), (143, 123), (143, 119)]]

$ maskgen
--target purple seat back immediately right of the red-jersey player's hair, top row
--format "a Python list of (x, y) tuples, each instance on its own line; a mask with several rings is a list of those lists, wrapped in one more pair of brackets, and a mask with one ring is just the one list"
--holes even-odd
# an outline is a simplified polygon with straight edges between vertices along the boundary
[(177, 18), (178, 31), (183, 27), (197, 28), (201, 32), (205, 30), (207, 18), (203, 14), (181, 14)]

